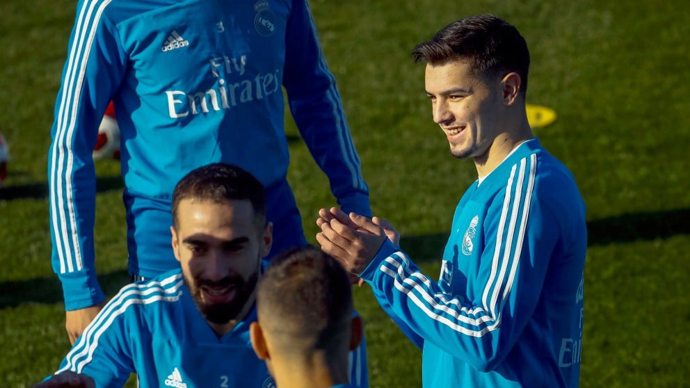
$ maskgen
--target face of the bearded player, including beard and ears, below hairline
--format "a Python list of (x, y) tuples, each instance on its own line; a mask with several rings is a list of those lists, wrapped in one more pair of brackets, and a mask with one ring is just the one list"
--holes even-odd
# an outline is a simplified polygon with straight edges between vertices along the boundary
[(182, 200), (172, 248), (202, 316), (223, 324), (254, 294), (260, 259), (271, 248), (271, 225), (259, 225), (249, 200)]

